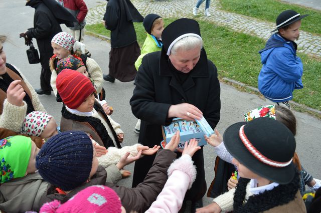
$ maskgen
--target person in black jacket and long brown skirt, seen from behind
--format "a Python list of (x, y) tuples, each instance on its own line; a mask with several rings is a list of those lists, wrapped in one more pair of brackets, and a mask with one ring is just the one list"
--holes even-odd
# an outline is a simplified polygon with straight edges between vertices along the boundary
[(105, 28), (110, 30), (109, 74), (104, 80), (133, 81), (137, 71), (134, 66), (140, 55), (133, 22), (143, 17), (129, 0), (109, 0), (104, 15)]

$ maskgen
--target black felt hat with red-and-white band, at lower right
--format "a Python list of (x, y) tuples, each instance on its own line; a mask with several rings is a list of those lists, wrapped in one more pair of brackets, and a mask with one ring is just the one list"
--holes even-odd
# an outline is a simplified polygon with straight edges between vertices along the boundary
[(223, 135), (226, 149), (254, 173), (280, 184), (295, 174), (295, 139), (282, 123), (267, 117), (229, 126)]

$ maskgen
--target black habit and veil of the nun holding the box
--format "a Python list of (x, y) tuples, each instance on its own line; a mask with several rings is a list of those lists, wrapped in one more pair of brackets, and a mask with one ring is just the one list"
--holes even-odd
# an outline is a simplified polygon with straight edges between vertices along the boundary
[[(188, 33), (201, 36), (195, 20), (180, 19), (173, 22), (163, 31), (162, 51), (147, 54), (142, 59), (130, 99), (132, 113), (141, 119), (138, 143), (149, 147), (161, 143), (161, 125), (169, 125), (173, 119), (168, 118), (172, 104), (193, 104), (203, 112), (213, 129), (220, 120), (220, 83), (217, 69), (207, 59), (205, 50), (201, 50), (200, 60), (186, 76), (175, 74), (179, 71), (171, 65), (167, 55), (171, 43)], [(133, 187), (143, 181), (153, 159), (154, 156), (144, 156), (135, 162)], [(206, 192), (203, 147), (194, 154), (193, 161), (197, 166), (197, 177), (185, 199), (196, 201)]]

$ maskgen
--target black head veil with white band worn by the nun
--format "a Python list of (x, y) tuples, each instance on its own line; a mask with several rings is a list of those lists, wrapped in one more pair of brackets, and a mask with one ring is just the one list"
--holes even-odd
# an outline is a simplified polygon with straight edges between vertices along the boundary
[(169, 24), (162, 33), (163, 49), (169, 56), (173, 45), (180, 39), (187, 36), (195, 36), (200, 39), (200, 25), (193, 19), (178, 19)]

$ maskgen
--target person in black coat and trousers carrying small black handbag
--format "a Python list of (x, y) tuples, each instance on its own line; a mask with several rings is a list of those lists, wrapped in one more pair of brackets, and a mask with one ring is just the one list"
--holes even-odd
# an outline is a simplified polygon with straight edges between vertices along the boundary
[(55, 16), (42, 0), (27, 0), (26, 6), (30, 6), (36, 10), (34, 16), (34, 27), (29, 28), (25, 33), (21, 33), (20, 37), (24, 37), (29, 41), (31, 41), (32, 38), (37, 40), (41, 63), (41, 88), (35, 90), (39, 95), (50, 95), (51, 72), (49, 68), (49, 59), (53, 53), (51, 39), (62, 30)]

